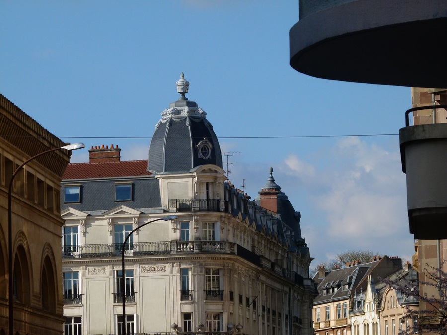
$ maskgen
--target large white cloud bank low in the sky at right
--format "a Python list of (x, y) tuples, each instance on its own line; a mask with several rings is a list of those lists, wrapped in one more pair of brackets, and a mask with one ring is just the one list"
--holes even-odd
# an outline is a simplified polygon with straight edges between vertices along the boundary
[[(304, 194), (301, 230), (318, 261), (351, 249), (375, 250), (411, 259), (405, 174), (399, 151), (349, 137), (337, 141), (325, 157), (306, 161), (296, 154), (284, 159), (287, 195)], [(312, 157), (315, 159), (315, 157)], [(283, 178), (286, 177), (286, 180)], [(289, 178), (300, 180), (297, 188)], [(283, 187), (283, 190), (285, 188)]]

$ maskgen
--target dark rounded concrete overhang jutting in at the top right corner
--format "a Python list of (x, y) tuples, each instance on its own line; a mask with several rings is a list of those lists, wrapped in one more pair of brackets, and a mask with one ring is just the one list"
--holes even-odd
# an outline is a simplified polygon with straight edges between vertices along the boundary
[(447, 87), (435, 57), (446, 30), (444, 0), (299, 0), (290, 65), (325, 79)]

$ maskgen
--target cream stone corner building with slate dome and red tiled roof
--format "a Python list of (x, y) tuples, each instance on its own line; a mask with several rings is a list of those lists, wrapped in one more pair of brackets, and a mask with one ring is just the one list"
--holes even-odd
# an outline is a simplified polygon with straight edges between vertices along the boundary
[[(299, 212), (273, 169), (254, 201), (226, 180), (219, 141), (188, 89), (182, 74), (144, 160), (99, 146), (67, 168), (65, 334), (121, 334), (122, 322), (130, 334), (312, 334), (316, 290)], [(178, 218), (161, 220), (170, 215)], [(157, 219), (129, 239), (123, 269), (127, 234)]]

